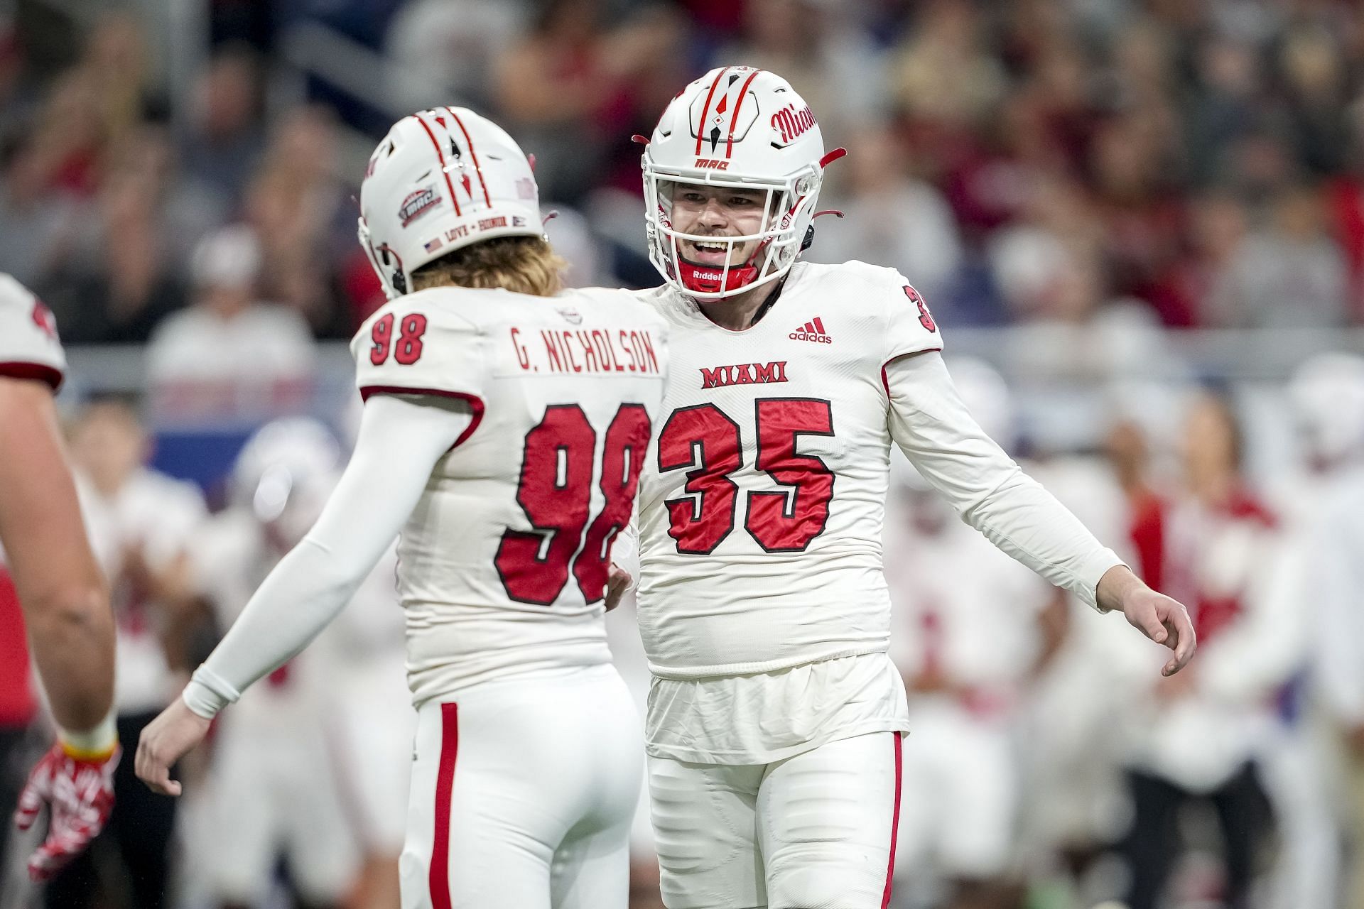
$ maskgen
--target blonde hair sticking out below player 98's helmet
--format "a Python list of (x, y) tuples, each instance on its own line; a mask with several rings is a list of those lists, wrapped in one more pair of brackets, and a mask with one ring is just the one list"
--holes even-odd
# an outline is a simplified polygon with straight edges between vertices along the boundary
[(412, 289), (505, 288), (514, 293), (552, 297), (563, 289), (569, 266), (544, 237), (494, 237), (456, 249), (412, 273)]

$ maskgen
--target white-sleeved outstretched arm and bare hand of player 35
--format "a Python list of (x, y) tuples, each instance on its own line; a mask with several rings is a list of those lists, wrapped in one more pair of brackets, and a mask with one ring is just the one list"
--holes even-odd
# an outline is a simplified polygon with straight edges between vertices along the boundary
[(1184, 606), (1147, 587), (985, 435), (941, 354), (892, 360), (885, 379), (891, 435), (963, 521), (1056, 586), (1099, 611), (1123, 612), (1146, 636), (1174, 650), (1165, 675), (1188, 664), (1195, 638)]

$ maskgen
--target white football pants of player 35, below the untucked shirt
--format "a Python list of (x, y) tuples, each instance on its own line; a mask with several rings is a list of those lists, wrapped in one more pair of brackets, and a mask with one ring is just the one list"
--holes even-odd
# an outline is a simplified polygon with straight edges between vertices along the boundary
[(668, 909), (884, 909), (900, 812), (900, 733), (769, 765), (649, 758)]

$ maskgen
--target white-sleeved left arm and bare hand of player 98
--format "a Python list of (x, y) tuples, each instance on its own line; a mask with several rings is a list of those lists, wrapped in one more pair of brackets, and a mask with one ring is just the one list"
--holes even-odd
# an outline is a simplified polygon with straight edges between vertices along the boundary
[[(419, 402), (420, 401), (420, 402)], [(184, 694), (142, 732), (136, 773), (180, 795), (170, 766), (196, 745), (218, 710), (303, 650), (351, 601), (416, 507), (431, 467), (472, 418), (458, 401), (376, 395), (316, 525), (265, 579)]]

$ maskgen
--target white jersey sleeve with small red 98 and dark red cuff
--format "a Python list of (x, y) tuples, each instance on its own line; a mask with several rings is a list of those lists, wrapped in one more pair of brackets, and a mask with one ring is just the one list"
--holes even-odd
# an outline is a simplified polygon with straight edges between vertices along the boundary
[(445, 301), (413, 294), (386, 304), (356, 333), (351, 353), (364, 399), (375, 394), (423, 394), (481, 407), (483, 333)]

